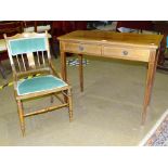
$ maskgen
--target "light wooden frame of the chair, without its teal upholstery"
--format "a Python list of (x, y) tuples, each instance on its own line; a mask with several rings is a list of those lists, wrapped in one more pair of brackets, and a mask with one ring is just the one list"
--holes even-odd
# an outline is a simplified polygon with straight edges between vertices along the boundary
[[(16, 72), (14, 61), (13, 61), (13, 55), (11, 54), (11, 51), (10, 51), (10, 40), (22, 39), (22, 38), (31, 38), (31, 37), (33, 38), (34, 37), (44, 37), (46, 46), (47, 46), (48, 61), (49, 61), (49, 67), (43, 67), (43, 68), (39, 68), (39, 69), (33, 68), (30, 70)], [(40, 91), (40, 92), (28, 93), (28, 94), (24, 94), (24, 95), (18, 95), (17, 94), (17, 90), (16, 90), (17, 81), (23, 77), (27, 78), (29, 75), (50, 74), (50, 75), (59, 77), (59, 78), (61, 78), (63, 80), (63, 78), (61, 77), (61, 74), (57, 73), (54, 69), (53, 63), (51, 61), (51, 54), (50, 54), (50, 50), (49, 50), (48, 33), (47, 31), (44, 34), (23, 33), (23, 34), (17, 34), (17, 35), (15, 35), (13, 37), (7, 37), (7, 35), (4, 35), (4, 39), (7, 41), (7, 48), (8, 48), (9, 57), (10, 57), (12, 72), (13, 72), (14, 96), (15, 96), (15, 100), (16, 100), (16, 103), (17, 103), (17, 111), (18, 111), (21, 130), (22, 130), (23, 135), (25, 135), (25, 117), (28, 117), (28, 116), (51, 112), (51, 111), (62, 108), (62, 107), (67, 107), (68, 113), (69, 113), (69, 121), (72, 121), (72, 119), (73, 119), (72, 87), (68, 83), (67, 83), (67, 86), (64, 86), (64, 87), (61, 87), (61, 88), (54, 88), (54, 89), (48, 90), (48, 91)], [(30, 56), (30, 55), (27, 54), (27, 57), (28, 56)], [(17, 59), (17, 61), (18, 61), (18, 59)], [(30, 59), (29, 64), (31, 64), (34, 61)], [(63, 98), (57, 95), (60, 93), (62, 93)], [(43, 96), (43, 95), (51, 95), (51, 103), (53, 103), (53, 96), (55, 96), (55, 98), (57, 98), (60, 100), (61, 104), (60, 105), (50, 105), (50, 106), (48, 106), (46, 108), (35, 111), (35, 112), (31, 112), (31, 113), (27, 113), (27, 114), (24, 113), (24, 107), (23, 107), (23, 101), (24, 100), (28, 100), (28, 99), (31, 99), (31, 98), (40, 98), (40, 96)]]

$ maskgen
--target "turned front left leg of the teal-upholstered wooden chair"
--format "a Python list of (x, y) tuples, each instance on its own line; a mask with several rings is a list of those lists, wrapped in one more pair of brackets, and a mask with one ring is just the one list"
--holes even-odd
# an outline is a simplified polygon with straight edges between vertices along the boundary
[(24, 119), (24, 112), (23, 112), (23, 103), (22, 101), (17, 101), (17, 107), (18, 107), (18, 116), (20, 116), (20, 122), (21, 122), (21, 130), (23, 137), (25, 135), (25, 119)]

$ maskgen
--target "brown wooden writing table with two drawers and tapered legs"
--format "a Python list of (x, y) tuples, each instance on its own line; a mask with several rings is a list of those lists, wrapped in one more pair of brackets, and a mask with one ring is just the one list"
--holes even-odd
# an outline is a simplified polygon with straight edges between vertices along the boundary
[(158, 52), (163, 35), (143, 35), (102, 30), (76, 30), (60, 36), (62, 76), (67, 81), (66, 53), (79, 55), (80, 89), (83, 91), (82, 54), (147, 63), (146, 86), (142, 112), (144, 124), (151, 100)]

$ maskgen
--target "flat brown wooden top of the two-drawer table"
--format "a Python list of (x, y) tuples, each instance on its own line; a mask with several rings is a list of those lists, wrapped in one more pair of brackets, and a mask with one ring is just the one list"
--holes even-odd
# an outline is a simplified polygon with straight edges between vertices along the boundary
[(57, 38), (64, 41), (94, 42), (100, 44), (122, 44), (157, 49), (163, 35), (143, 35), (134, 33), (116, 33), (106, 30), (76, 30)]

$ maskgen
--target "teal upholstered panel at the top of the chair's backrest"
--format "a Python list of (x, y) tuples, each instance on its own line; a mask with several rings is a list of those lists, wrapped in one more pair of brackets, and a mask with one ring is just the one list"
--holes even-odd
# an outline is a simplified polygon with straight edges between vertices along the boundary
[(44, 51), (46, 39), (44, 38), (24, 38), (10, 41), (11, 54), (22, 54), (36, 51)]

